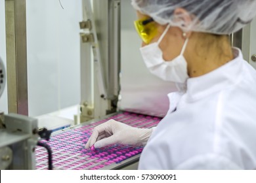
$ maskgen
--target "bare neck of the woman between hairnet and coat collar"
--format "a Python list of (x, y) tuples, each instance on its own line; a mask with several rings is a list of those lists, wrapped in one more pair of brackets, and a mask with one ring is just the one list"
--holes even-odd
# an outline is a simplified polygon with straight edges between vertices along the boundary
[(184, 54), (190, 77), (205, 75), (233, 59), (228, 36), (193, 33)]

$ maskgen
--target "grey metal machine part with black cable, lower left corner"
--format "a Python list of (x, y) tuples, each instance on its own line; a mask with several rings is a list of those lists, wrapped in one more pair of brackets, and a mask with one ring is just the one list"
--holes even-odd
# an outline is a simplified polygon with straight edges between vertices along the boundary
[[(6, 75), (0, 58), (0, 97), (5, 88)], [(35, 149), (43, 146), (47, 150), (47, 168), (52, 169), (51, 148), (41, 142), (51, 131), (39, 131), (37, 119), (21, 114), (0, 113), (0, 169), (35, 169)]]

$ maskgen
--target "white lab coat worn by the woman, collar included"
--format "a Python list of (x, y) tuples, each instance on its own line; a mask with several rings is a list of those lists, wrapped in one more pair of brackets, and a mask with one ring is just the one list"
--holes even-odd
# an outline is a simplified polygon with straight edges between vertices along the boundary
[(169, 93), (139, 169), (256, 169), (256, 71), (233, 52), (234, 60), (189, 78), (185, 93)]

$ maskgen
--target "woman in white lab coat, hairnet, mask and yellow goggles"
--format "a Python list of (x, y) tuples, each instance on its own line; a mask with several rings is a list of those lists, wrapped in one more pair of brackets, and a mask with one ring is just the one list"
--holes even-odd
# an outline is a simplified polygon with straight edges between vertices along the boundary
[(145, 145), (139, 169), (256, 169), (256, 71), (229, 38), (253, 20), (256, 1), (132, 5), (146, 67), (179, 90), (168, 94), (169, 110), (157, 127), (109, 120), (93, 129), (85, 148)]

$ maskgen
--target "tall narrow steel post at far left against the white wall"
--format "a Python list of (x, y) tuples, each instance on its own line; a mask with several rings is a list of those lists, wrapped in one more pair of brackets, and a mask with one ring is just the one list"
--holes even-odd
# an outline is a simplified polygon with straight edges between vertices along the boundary
[(9, 112), (28, 115), (26, 0), (5, 0)]

